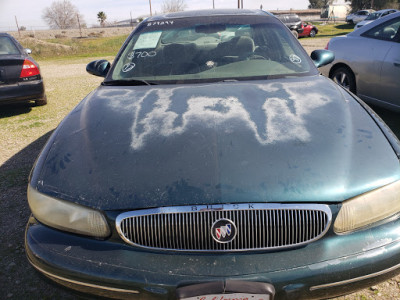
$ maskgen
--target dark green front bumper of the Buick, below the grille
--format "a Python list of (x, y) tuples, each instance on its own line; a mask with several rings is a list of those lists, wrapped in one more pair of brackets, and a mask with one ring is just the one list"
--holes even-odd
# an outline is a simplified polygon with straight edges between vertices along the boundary
[[(30, 218), (32, 265), (69, 288), (111, 298), (176, 299), (178, 287), (240, 280), (271, 283), (275, 299), (350, 293), (400, 272), (400, 221), (346, 236), (328, 233), (300, 249), (192, 254), (138, 250), (51, 229)], [(352, 254), (349, 254), (352, 253)]]

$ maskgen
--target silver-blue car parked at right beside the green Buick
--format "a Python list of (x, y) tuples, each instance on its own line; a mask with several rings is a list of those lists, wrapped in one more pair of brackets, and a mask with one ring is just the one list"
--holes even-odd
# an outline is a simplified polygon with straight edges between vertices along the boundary
[(396, 12), (332, 38), (335, 60), (320, 71), (368, 103), (400, 110), (399, 27)]

